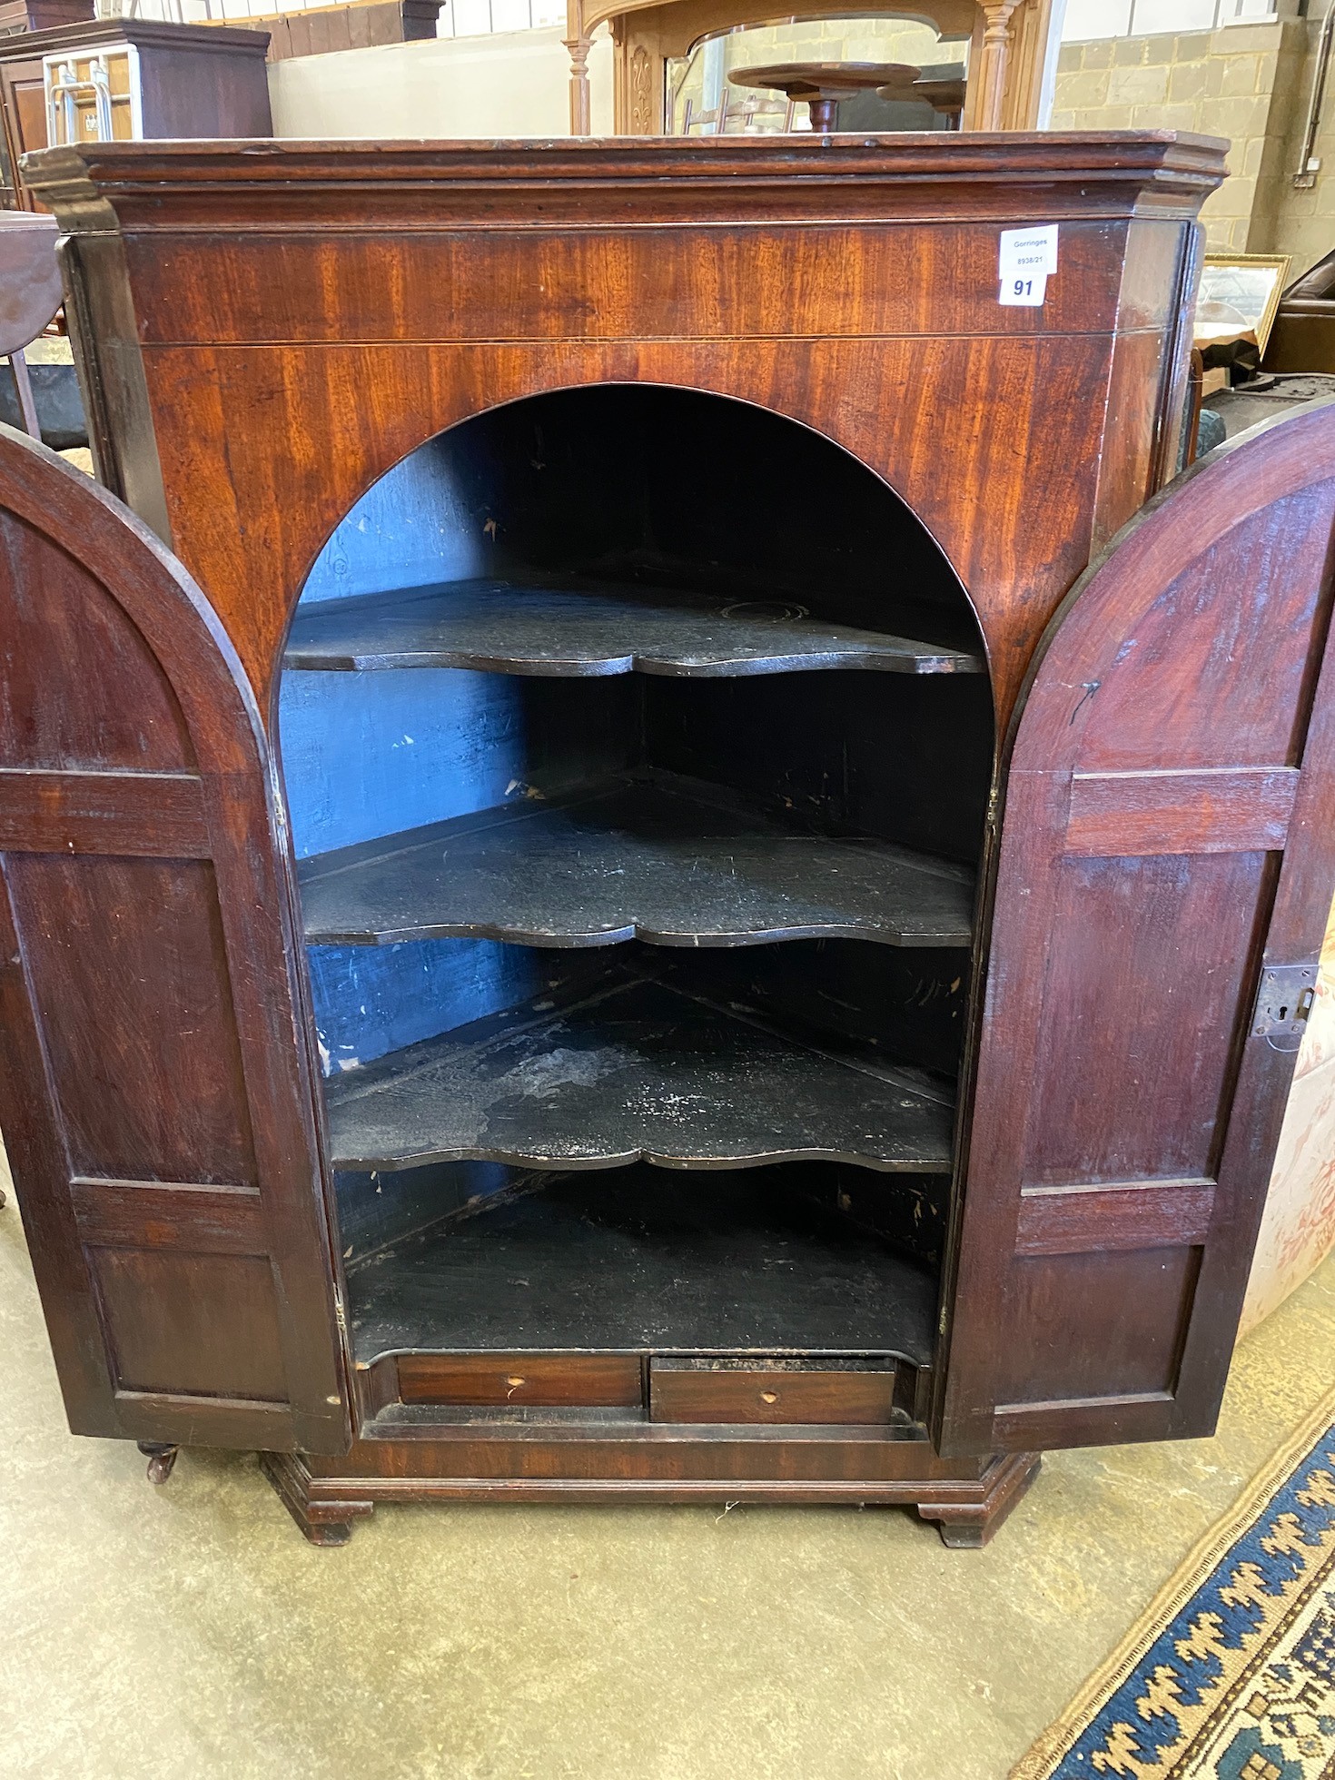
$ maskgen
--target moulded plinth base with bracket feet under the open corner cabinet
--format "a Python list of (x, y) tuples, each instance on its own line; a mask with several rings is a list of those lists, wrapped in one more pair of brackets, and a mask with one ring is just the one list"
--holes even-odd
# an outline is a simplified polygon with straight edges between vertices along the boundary
[[(829, 1433), (842, 1433), (831, 1429)], [(475, 1458), (484, 1442), (472, 1440)], [(691, 1442), (694, 1445), (694, 1442)], [(765, 1442), (771, 1445), (771, 1442)], [(778, 1445), (778, 1442), (773, 1442)], [(881, 1463), (865, 1477), (717, 1477), (717, 1476), (459, 1476), (450, 1460), (465, 1456), (454, 1440), (358, 1440), (345, 1458), (262, 1452), (260, 1463), (288, 1513), (313, 1545), (345, 1545), (352, 1522), (377, 1502), (728, 1502), (732, 1506), (849, 1504), (917, 1508), (934, 1520), (952, 1547), (986, 1545), (1032, 1483), (1040, 1454), (1006, 1452), (961, 1461), (961, 1474), (933, 1454), (926, 1440), (879, 1447)], [(835, 1442), (831, 1447), (838, 1449)], [(863, 1451), (872, 1451), (867, 1442)], [(890, 1463), (885, 1458), (890, 1456)], [(968, 1472), (974, 1470), (970, 1476)], [(899, 1472), (899, 1476), (892, 1474)]]

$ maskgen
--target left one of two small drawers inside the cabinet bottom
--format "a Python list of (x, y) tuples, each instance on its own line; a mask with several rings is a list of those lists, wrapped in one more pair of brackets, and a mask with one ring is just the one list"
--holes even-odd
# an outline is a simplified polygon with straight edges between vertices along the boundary
[(641, 1360), (619, 1353), (402, 1353), (399, 1401), (457, 1408), (637, 1410)]

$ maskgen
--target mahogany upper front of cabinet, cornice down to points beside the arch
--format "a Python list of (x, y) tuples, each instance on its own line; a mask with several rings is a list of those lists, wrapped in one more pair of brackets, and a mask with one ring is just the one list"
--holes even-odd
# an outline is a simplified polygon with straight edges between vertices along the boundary
[[(354, 500), (434, 433), (593, 381), (785, 413), (883, 475), (974, 598), (1002, 710), (1171, 461), (1194, 217), (1169, 134), (135, 142), (28, 182), (103, 475), (208, 589), (267, 703)], [(1043, 308), (999, 230), (1059, 221)]]

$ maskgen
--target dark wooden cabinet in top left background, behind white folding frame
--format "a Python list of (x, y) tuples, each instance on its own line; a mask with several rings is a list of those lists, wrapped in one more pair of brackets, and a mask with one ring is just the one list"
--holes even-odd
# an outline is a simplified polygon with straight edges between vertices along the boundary
[(267, 48), (263, 30), (153, 18), (50, 20), (0, 37), (0, 201), (34, 208), (20, 157), (50, 142), (269, 135)]

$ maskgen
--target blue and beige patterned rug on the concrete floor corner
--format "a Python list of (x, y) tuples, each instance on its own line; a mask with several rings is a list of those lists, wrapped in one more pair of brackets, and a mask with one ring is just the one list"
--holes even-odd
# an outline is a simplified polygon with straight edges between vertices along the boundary
[(1011, 1780), (1335, 1780), (1335, 1396)]

